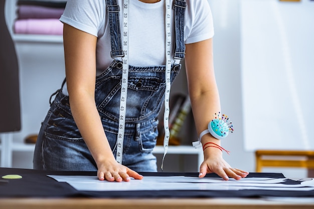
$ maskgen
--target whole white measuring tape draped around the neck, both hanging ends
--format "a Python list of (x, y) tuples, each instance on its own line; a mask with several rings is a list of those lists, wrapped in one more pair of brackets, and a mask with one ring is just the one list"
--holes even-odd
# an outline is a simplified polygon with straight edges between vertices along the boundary
[[(116, 161), (122, 164), (122, 152), (123, 152), (123, 139), (125, 129), (125, 110), (126, 110), (126, 98), (127, 98), (127, 83), (128, 83), (128, 14), (129, 14), (129, 1), (123, 1), (123, 52), (122, 58), (122, 81), (121, 81), (121, 96), (120, 96), (120, 110), (119, 110), (119, 130), (117, 137), (117, 153)], [(165, 113), (164, 113), (164, 157), (162, 162), (162, 169), (164, 165), (164, 159), (168, 151), (168, 144), (170, 138), (169, 131), (169, 98), (171, 89), (171, 4), (170, 0), (166, 0), (166, 91), (165, 91)]]

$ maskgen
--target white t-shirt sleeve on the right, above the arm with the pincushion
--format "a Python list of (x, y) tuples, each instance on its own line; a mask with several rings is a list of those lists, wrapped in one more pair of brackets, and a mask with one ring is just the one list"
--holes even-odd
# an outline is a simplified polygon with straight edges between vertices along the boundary
[[(213, 16), (207, 1), (189, 1), (186, 16), (186, 44), (210, 39), (214, 36)], [(187, 2), (189, 4), (189, 2)]]

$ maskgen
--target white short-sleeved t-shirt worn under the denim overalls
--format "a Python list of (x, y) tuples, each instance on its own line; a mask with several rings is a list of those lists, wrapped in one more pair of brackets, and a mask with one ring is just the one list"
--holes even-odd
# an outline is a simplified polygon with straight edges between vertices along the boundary
[[(207, 0), (187, 0), (185, 44), (210, 39), (214, 35), (212, 13)], [(123, 0), (117, 0), (123, 10)], [(173, 4), (173, 0), (171, 0)], [(172, 23), (174, 23), (172, 10)], [(147, 4), (129, 1), (129, 64), (158, 66), (166, 64), (165, 0)], [(60, 21), (98, 37), (96, 47), (97, 75), (112, 62), (110, 31), (105, 0), (68, 0)], [(121, 30), (123, 16), (120, 15)], [(174, 24), (172, 25), (174, 31)], [(121, 31), (121, 33), (123, 33)], [(174, 34), (172, 35), (174, 39)]]

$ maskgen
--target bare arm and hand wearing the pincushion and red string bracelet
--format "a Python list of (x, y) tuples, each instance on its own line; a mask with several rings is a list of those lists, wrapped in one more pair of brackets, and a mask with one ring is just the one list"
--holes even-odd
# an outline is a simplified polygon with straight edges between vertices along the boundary
[[(207, 129), (208, 123), (220, 112), (220, 98), (215, 79), (213, 64), (213, 40), (186, 45), (186, 72), (189, 95), (198, 136)], [(220, 146), (220, 140), (211, 134), (205, 134), (202, 144), (212, 142)], [(206, 173), (217, 173), (228, 180), (229, 177), (240, 179), (248, 172), (232, 168), (222, 157), (222, 151), (210, 146), (204, 150), (204, 162), (200, 166), (200, 177)], [(229, 176), (229, 177), (228, 177)]]

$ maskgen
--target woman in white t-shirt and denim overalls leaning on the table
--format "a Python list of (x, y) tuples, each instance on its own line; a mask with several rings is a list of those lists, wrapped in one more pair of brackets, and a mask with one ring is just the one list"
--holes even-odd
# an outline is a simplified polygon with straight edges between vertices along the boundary
[[(57, 92), (42, 125), (34, 168), (97, 170), (99, 180), (108, 181), (141, 179), (138, 171), (156, 171), (151, 151), (158, 135), (156, 118), (167, 88), (167, 2), (131, 0), (127, 5), (129, 70), (122, 164), (115, 157), (121, 116), (121, 34), (125, 27), (122, 13), (125, 5), (123, 0), (67, 2), (60, 19), (64, 23), (66, 85)], [(171, 82), (179, 73), (185, 50), (189, 94), (200, 134), (212, 115), (220, 111), (213, 67), (211, 11), (205, 0), (189, 0), (186, 8), (184, 1), (170, 2), (177, 4), (171, 11), (171, 23), (175, 23), (171, 31), (176, 43), (172, 55), (175, 50), (178, 52), (172, 60)], [(202, 137), (203, 144), (208, 142), (220, 145), (210, 134)], [(231, 168), (217, 146), (204, 150), (200, 177), (209, 172), (226, 180), (228, 176), (240, 179), (248, 174)]]

